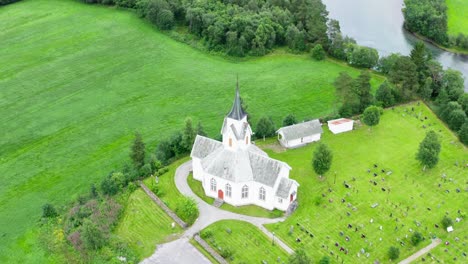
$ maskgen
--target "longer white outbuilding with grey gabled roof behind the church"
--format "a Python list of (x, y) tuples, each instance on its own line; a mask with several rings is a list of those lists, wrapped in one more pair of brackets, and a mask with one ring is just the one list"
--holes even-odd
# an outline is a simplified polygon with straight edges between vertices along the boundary
[(296, 148), (307, 143), (319, 141), (323, 133), (318, 119), (282, 127), (276, 131), (278, 140), (285, 148)]

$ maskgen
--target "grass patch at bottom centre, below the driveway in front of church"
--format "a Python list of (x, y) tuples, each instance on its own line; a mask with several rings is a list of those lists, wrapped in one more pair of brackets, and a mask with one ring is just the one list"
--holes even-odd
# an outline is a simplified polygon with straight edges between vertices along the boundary
[[(212, 234), (205, 238), (218, 253), (229, 249), (232, 256), (226, 258), (229, 263), (276, 263), (278, 258), (286, 261), (288, 254), (272, 242), (256, 226), (237, 220), (222, 220), (202, 230)], [(280, 262), (281, 263), (281, 262)]]

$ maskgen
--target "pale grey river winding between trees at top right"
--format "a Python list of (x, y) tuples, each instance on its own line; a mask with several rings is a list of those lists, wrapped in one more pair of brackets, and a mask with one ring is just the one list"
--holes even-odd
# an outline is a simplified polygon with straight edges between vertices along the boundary
[[(358, 44), (375, 48), (381, 56), (390, 53), (409, 55), (418, 39), (403, 29), (403, 0), (322, 0), (329, 17), (340, 22), (341, 32)], [(459, 70), (468, 92), (468, 56), (427, 47), (444, 68)]]

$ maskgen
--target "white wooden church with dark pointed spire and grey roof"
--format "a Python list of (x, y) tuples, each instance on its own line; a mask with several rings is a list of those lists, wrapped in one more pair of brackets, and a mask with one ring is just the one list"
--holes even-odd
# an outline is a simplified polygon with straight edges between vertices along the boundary
[(297, 198), (299, 184), (289, 179), (288, 164), (252, 144), (239, 85), (221, 134), (222, 142), (198, 135), (190, 154), (193, 177), (202, 182), (205, 194), (234, 206), (254, 204), (286, 211)]

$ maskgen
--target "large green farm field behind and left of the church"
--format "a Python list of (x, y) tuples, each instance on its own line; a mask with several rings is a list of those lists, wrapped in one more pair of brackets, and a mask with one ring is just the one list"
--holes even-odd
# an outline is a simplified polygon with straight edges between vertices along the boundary
[[(202, 121), (219, 133), (236, 75), (252, 121), (333, 111), (333, 80), (356, 69), (277, 52), (235, 60), (197, 51), (132, 12), (72, 0), (0, 8), (0, 262), (41, 262), (28, 232), (47, 202), (63, 205), (128, 161)], [(373, 79), (374, 88), (382, 82)]]

